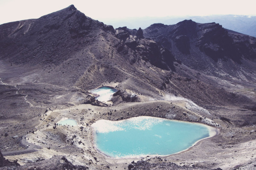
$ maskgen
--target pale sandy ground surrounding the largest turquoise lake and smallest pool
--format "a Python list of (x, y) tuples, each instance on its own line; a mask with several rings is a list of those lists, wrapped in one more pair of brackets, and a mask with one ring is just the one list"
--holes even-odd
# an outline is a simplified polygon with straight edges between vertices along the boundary
[[(93, 147), (93, 130), (90, 125), (99, 119), (119, 118), (119, 114), (123, 114), (122, 111), (128, 110), (129, 108), (140, 108), (144, 107), (146, 104), (153, 105), (157, 103), (157, 101), (126, 103), (112, 107), (76, 105), (63, 110), (48, 111), (45, 115), (41, 116), (43, 121), (37, 126), (38, 130), (35, 134), (30, 133), (26, 135), (27, 142), (41, 146), (42, 148), (37, 152), (6, 156), (6, 158), (10, 160), (17, 159), (18, 163), (23, 165), (27, 162), (35, 162), (38, 159), (50, 159), (52, 156), (66, 155), (67, 159), (75, 165), (86, 164), (89, 167), (91, 165), (93, 165), (93, 167), (108, 165), (111, 169), (116, 169), (116, 167), (118, 169), (127, 168), (131, 161), (146, 160), (148, 158), (113, 159), (100, 154)], [(170, 102), (161, 101), (160, 104), (174, 105), (176, 108), (181, 109), (179, 111), (181, 113), (189, 111), (189, 109), (184, 107), (186, 103), (180, 100), (173, 101), (172, 104)], [(108, 116), (109, 111), (112, 111), (112, 117)], [(170, 114), (166, 114), (165, 116), (174, 116), (174, 114)], [(191, 118), (192, 121), (201, 116), (191, 111), (188, 115), (190, 116), (187, 116), (186, 119)], [(65, 117), (75, 119), (78, 125), (73, 127), (58, 126), (57, 129), (53, 129), (54, 124)], [(218, 125), (210, 119), (204, 120), (209, 125)], [(49, 126), (47, 127), (47, 125)], [(76, 136), (74, 137), (74, 135)], [(216, 137), (202, 140), (195, 144), (195, 146), (189, 148), (189, 150), (170, 156), (163, 156), (162, 159), (166, 159), (166, 162), (174, 162), (180, 166), (184, 164), (191, 166), (204, 165), (215, 168), (221, 167), (223, 170), (231, 170), (239, 164), (249, 164), (250, 162), (253, 162), (252, 165), (255, 164), (256, 140), (239, 144), (218, 145), (218, 138), (221, 138), (222, 135), (222, 130), (219, 128), (219, 134)], [(71, 144), (71, 142), (73, 142), (73, 144)], [(96, 157), (97, 160), (94, 159), (94, 157)], [(151, 158), (150, 162), (152, 163), (159, 162), (158, 159), (155, 159), (155, 156), (150, 156), (149, 158)]]

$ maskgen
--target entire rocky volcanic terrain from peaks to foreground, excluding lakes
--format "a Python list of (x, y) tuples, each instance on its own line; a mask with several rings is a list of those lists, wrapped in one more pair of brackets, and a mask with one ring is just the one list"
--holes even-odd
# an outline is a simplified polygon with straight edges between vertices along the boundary
[[(101, 86), (118, 90), (111, 101), (90, 92)], [(114, 29), (71, 5), (2, 24), (0, 101), (0, 170), (256, 168), (256, 38), (218, 23)], [(135, 116), (218, 134), (169, 156), (96, 149), (94, 122)], [(58, 125), (63, 118), (78, 125)]]

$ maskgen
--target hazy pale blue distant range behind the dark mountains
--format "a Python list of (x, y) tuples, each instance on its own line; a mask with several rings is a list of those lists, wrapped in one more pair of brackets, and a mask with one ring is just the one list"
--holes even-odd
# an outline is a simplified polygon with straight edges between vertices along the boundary
[(210, 16), (186, 16), (186, 17), (138, 17), (125, 20), (104, 20), (104, 23), (114, 28), (127, 26), (127, 28), (147, 28), (154, 23), (173, 25), (182, 20), (193, 20), (197, 23), (219, 23), (224, 28), (256, 37), (256, 16), (244, 15), (210, 15)]

